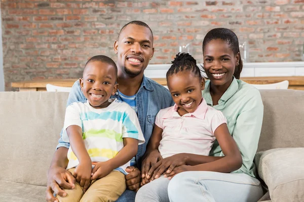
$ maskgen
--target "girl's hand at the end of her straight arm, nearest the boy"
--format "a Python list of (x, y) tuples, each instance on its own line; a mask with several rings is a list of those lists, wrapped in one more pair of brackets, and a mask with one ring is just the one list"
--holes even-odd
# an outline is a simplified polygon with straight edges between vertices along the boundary
[[(159, 152), (159, 150), (155, 149), (151, 151), (147, 157), (142, 161), (141, 164), (141, 178), (144, 179), (149, 179), (147, 178), (148, 176), (148, 171), (150, 170), (151, 167), (153, 167), (157, 162), (162, 160), (162, 156)], [(147, 182), (146, 182), (147, 183)]]

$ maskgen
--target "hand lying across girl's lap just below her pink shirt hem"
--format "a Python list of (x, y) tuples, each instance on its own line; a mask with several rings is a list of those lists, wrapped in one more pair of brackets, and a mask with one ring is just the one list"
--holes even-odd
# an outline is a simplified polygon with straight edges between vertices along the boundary
[(160, 160), (158, 163), (151, 166), (148, 171), (147, 178), (151, 177), (151, 180), (159, 178), (162, 174), (170, 173), (175, 167), (186, 165), (185, 154), (177, 154), (171, 157)]

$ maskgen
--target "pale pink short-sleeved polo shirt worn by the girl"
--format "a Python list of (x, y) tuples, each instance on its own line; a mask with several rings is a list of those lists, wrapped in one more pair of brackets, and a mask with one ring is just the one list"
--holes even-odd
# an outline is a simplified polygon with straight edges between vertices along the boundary
[(195, 112), (179, 116), (177, 105), (159, 111), (155, 124), (163, 129), (159, 151), (163, 158), (179, 153), (209, 155), (214, 131), (227, 123), (224, 115), (208, 106), (204, 98)]

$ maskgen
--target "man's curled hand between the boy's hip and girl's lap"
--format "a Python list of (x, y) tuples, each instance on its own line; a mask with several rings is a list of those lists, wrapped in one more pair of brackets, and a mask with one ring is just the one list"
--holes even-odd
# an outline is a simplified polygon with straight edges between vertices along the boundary
[(140, 187), (141, 180), (139, 169), (135, 168), (134, 166), (128, 166), (126, 171), (129, 173), (126, 175), (127, 188), (132, 191), (137, 191)]

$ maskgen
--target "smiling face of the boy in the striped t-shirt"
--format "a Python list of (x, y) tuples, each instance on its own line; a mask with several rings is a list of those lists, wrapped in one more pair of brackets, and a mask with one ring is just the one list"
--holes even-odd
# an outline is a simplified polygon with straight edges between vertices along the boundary
[(93, 108), (101, 109), (109, 106), (108, 99), (118, 89), (116, 72), (112, 65), (100, 61), (87, 64), (80, 86)]

